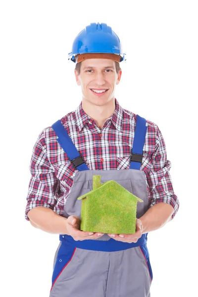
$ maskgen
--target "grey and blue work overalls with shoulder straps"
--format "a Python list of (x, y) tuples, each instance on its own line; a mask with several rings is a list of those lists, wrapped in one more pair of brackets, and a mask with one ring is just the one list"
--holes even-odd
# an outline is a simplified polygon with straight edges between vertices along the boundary
[[(89, 170), (60, 120), (52, 125), (57, 141), (64, 149), (76, 172), (70, 194), (64, 205), (64, 216), (81, 218), (78, 197), (93, 190), (93, 175), (101, 184), (115, 180), (144, 202), (137, 204), (137, 218), (148, 210), (146, 175), (140, 170), (146, 136), (146, 120), (137, 115), (130, 169)], [(97, 240), (75, 241), (59, 235), (54, 256), (52, 286), (49, 297), (150, 297), (152, 270), (147, 248), (147, 235), (137, 243), (115, 241), (107, 234)]]

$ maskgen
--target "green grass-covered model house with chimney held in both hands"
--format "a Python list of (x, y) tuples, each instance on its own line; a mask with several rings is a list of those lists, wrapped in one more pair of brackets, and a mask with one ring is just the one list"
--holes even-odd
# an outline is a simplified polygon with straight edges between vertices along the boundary
[(82, 231), (134, 234), (136, 232), (137, 202), (143, 202), (116, 181), (100, 183), (93, 176), (93, 190), (82, 195)]

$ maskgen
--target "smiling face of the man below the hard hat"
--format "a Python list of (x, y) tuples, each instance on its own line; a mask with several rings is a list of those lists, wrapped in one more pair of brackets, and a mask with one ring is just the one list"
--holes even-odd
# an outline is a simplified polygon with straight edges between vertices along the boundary
[(110, 59), (87, 59), (82, 61), (80, 74), (75, 70), (78, 86), (81, 86), (83, 101), (102, 106), (114, 100), (115, 88), (122, 71), (117, 74), (115, 62)]

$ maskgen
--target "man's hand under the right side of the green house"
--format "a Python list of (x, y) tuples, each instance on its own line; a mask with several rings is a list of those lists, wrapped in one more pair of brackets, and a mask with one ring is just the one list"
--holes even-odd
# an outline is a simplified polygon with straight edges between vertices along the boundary
[(143, 224), (140, 219), (136, 218), (136, 233), (134, 234), (108, 234), (111, 238), (123, 243), (137, 243), (142, 236)]

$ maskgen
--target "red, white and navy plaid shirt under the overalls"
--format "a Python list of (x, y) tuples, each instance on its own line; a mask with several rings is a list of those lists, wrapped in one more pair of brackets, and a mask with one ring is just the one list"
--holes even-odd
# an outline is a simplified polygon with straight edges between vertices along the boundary
[[(137, 116), (123, 109), (115, 99), (115, 110), (100, 131), (95, 120), (82, 108), (82, 101), (75, 111), (66, 114), (61, 123), (77, 150), (91, 170), (129, 169)], [(146, 141), (140, 170), (146, 175), (149, 207), (169, 203), (174, 208), (172, 218), (179, 208), (174, 194), (166, 158), (163, 137), (157, 125), (147, 120)], [(31, 179), (27, 196), (25, 218), (36, 206), (53, 209), (64, 216), (64, 204), (70, 193), (76, 170), (66, 153), (56, 141), (51, 127), (44, 129), (33, 148)]]

